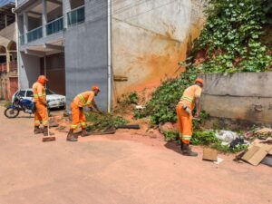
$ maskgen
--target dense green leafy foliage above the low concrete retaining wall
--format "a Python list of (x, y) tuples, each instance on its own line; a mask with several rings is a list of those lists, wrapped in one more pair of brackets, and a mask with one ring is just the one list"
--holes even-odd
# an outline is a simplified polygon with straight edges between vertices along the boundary
[[(267, 1), (265, 1), (267, 2)], [(194, 42), (193, 53), (206, 53), (204, 73), (265, 72), (271, 54), (260, 43), (268, 17), (262, 1), (210, 0), (207, 24)]]

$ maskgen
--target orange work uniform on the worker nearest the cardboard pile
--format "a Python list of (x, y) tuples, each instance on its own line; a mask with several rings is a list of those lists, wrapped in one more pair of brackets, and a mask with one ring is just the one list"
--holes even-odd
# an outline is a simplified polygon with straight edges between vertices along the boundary
[(195, 98), (200, 97), (202, 92), (199, 85), (189, 86), (184, 92), (177, 105), (176, 111), (178, 115), (178, 125), (180, 131), (180, 140), (183, 143), (189, 144), (190, 138), (192, 136), (192, 114), (189, 114), (183, 109), (183, 105), (186, 105), (191, 111), (195, 106)]

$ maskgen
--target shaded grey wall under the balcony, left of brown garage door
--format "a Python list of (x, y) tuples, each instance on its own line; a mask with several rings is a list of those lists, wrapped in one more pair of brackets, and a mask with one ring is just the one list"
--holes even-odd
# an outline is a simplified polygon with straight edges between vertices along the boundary
[(40, 74), (40, 58), (23, 52), (18, 56), (19, 86), (21, 89), (32, 88)]

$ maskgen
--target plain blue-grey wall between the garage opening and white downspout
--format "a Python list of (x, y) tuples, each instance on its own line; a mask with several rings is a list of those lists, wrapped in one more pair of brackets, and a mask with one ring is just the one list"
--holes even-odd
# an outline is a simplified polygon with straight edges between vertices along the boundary
[[(94, 9), (97, 6), (102, 6), (98, 17)], [(85, 23), (68, 28), (64, 34), (67, 104), (97, 84), (102, 92), (96, 101), (107, 110), (107, 17), (102, 15), (106, 11), (106, 0), (86, 1)]]

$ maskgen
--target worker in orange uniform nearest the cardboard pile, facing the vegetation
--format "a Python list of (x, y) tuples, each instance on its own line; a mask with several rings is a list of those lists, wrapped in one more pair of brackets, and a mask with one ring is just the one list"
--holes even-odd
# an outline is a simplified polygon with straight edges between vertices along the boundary
[(192, 136), (192, 111), (196, 105), (195, 118), (200, 114), (200, 95), (203, 88), (203, 80), (197, 79), (194, 85), (189, 86), (177, 105), (178, 124), (181, 141), (181, 153), (186, 156), (198, 156), (197, 152), (189, 149), (189, 141)]

